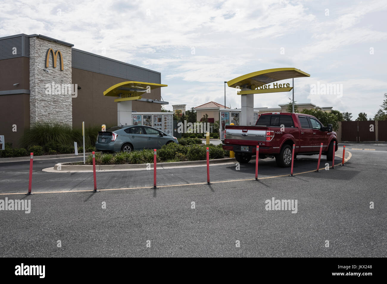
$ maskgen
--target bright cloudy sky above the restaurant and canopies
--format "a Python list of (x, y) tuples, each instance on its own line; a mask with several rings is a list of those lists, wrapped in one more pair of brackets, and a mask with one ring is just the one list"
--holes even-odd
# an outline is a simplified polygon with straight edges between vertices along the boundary
[[(224, 103), (224, 81), (295, 67), (295, 99), (373, 115), (387, 93), (386, 1), (2, 0), (0, 37), (43, 34), (77, 49), (161, 72), (162, 97), (187, 108)], [(291, 80), (288, 80), (291, 83)], [(288, 81), (283, 81), (287, 83)], [(342, 94), (311, 86), (342, 84)], [(255, 107), (289, 93), (255, 95)], [(226, 87), (226, 105), (240, 107)], [(171, 109), (171, 106), (167, 106)]]

